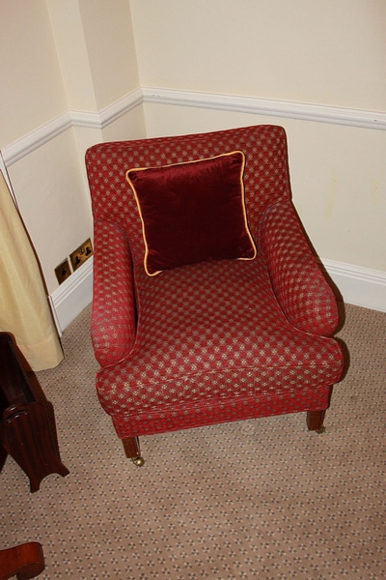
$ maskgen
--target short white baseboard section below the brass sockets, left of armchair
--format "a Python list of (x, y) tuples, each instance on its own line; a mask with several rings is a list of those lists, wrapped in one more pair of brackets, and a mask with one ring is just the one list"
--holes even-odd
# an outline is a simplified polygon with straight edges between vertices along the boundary
[(93, 256), (84, 262), (50, 296), (60, 336), (93, 299)]

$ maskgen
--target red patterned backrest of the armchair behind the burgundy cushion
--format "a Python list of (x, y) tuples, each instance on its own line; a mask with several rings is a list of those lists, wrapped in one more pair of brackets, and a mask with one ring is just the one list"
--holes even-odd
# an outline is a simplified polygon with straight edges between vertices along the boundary
[(86, 153), (94, 220), (119, 224), (130, 240), (133, 258), (142, 260), (141, 220), (126, 171), (170, 165), (244, 151), (245, 202), (255, 240), (264, 209), (288, 198), (289, 174), (285, 131), (277, 125), (253, 125), (210, 133), (100, 143)]

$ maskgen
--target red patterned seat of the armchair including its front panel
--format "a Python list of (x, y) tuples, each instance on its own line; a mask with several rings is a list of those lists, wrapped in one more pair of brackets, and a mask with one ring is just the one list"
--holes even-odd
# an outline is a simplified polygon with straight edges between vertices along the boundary
[[(247, 407), (245, 417), (258, 416), (248, 415), (257, 399), (259, 416), (264, 399), (267, 415), (275, 405), (279, 414), (284, 399), (285, 412), (303, 409), (302, 396), (318, 408), (312, 405), (319, 387), (339, 380), (339, 344), (286, 320), (262, 256), (192, 264), (152, 278), (138, 269), (135, 276), (134, 348), (97, 377), (98, 396), (119, 436), (130, 435), (128, 423), (138, 435), (230, 420), (220, 412), (216, 418), (215, 409), (235, 405)], [(211, 420), (200, 423), (197, 412), (212, 414)]]

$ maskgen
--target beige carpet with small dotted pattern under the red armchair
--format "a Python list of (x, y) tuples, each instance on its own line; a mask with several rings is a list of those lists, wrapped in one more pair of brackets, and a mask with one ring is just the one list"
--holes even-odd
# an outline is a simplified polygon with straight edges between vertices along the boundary
[(95, 395), (89, 317), (38, 373), (70, 474), (30, 494), (7, 459), (0, 547), (41, 542), (42, 579), (385, 578), (386, 315), (347, 307), (325, 434), (302, 414), (144, 437), (142, 468)]

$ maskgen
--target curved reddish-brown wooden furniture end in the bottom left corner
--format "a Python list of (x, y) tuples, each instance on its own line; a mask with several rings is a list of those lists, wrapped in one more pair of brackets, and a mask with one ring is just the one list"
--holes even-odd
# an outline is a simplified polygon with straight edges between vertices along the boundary
[(0, 550), (0, 580), (8, 580), (15, 574), (19, 580), (29, 580), (44, 569), (43, 549), (39, 542), (27, 542)]

